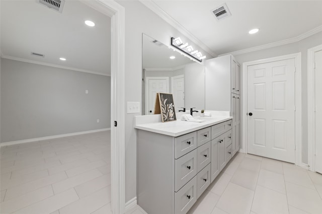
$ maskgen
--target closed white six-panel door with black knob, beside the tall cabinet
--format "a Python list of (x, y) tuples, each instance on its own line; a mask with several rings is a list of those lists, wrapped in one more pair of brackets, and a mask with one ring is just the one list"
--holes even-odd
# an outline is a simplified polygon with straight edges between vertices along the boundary
[(294, 163), (295, 60), (249, 66), (247, 76), (248, 153)]

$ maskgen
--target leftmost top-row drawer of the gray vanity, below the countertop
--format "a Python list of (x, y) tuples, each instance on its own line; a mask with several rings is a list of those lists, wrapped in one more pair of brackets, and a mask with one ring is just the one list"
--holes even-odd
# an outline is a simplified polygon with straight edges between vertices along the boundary
[(175, 158), (187, 154), (197, 148), (197, 132), (191, 132), (175, 138)]

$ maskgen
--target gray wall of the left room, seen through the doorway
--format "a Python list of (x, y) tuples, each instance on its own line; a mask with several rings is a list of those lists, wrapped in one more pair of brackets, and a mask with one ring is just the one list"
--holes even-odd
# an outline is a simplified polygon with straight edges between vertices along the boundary
[(109, 128), (110, 100), (109, 76), (1, 59), (1, 142)]

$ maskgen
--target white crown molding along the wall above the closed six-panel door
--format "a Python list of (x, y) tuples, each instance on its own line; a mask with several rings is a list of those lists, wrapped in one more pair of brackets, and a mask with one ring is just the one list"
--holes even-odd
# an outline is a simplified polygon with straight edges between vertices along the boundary
[[(317, 28), (314, 28), (304, 34), (301, 34), (297, 37), (293, 37), (290, 39), (286, 39), (286, 40), (282, 40), (282, 41), (278, 41), (278, 42), (274, 42), (274, 43), (269, 43), (266, 45), (260, 45), (260, 46), (256, 46), (256, 47), (248, 48), (248, 49), (244, 49), (244, 50), (233, 51), (233, 52), (230, 52), (227, 54), (231, 54), (231, 55), (235, 56), (235, 55), (239, 55), (239, 54), (246, 54), (246, 53), (250, 53), (250, 52), (254, 52), (254, 51), (260, 51), (260, 50), (264, 50), (264, 49), (268, 49), (268, 48), (274, 48), (274, 47), (281, 46), (281, 45), (287, 45), (290, 43), (299, 42), (307, 37), (310, 37), (314, 34), (321, 32), (321, 31), (322, 31), (322, 25), (318, 26)], [(221, 55), (219, 55), (219, 57), (223, 56), (223, 55), (227, 55), (227, 54), (221, 54)]]

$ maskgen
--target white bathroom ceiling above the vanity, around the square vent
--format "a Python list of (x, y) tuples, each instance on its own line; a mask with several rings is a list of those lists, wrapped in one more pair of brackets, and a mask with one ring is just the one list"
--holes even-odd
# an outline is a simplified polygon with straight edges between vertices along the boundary
[[(322, 1), (152, 2), (215, 55), (292, 39), (317, 27), (322, 30)], [(231, 16), (217, 21), (211, 9), (223, 3), (226, 3)], [(248, 32), (254, 28), (259, 28), (259, 33), (249, 35)]]

